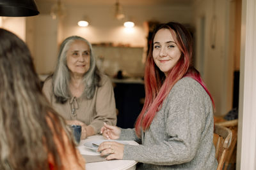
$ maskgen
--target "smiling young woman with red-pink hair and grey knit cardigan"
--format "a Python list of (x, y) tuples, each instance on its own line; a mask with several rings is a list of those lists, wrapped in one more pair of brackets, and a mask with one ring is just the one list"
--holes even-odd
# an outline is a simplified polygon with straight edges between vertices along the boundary
[(214, 102), (191, 64), (193, 39), (177, 22), (159, 25), (145, 63), (145, 104), (134, 129), (105, 124), (107, 141), (99, 146), (106, 159), (141, 162), (137, 169), (216, 169), (213, 138)]

